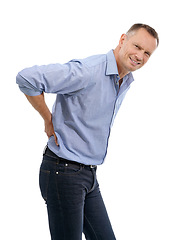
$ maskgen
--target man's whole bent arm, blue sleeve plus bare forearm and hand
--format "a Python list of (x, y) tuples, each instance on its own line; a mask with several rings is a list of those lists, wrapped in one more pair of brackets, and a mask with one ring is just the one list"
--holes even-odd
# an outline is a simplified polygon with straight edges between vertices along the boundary
[(16, 83), (32, 106), (43, 117), (47, 136), (54, 135), (58, 145), (52, 124), (52, 115), (46, 106), (43, 92), (73, 95), (89, 86), (90, 79), (92, 78), (89, 67), (81, 61), (72, 60), (66, 64), (57, 63), (26, 68), (18, 73)]

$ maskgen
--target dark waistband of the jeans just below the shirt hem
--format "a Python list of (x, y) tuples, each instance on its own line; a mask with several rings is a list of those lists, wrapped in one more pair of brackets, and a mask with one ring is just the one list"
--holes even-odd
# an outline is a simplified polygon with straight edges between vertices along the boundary
[(78, 167), (78, 168), (83, 167), (88, 170), (97, 168), (96, 165), (85, 165), (82, 163), (67, 160), (65, 158), (61, 158), (61, 157), (57, 156), (54, 152), (52, 152), (48, 147), (46, 147), (46, 149), (44, 150), (44, 155), (51, 157), (50, 161), (57, 162), (58, 164), (59, 163), (65, 164), (66, 166), (74, 166), (74, 167)]

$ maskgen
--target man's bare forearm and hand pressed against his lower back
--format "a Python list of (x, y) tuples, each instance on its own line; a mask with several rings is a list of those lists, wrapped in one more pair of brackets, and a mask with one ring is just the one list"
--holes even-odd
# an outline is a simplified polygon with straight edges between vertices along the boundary
[(45, 122), (45, 132), (46, 132), (48, 138), (53, 135), (54, 139), (55, 139), (55, 143), (58, 146), (59, 144), (57, 142), (57, 137), (54, 132), (54, 127), (53, 127), (53, 123), (52, 123), (52, 114), (45, 103), (44, 93), (42, 93), (41, 95), (38, 95), (38, 96), (28, 96), (26, 94), (25, 94), (25, 96), (27, 97), (27, 99), (31, 103), (31, 105), (42, 116), (42, 118)]

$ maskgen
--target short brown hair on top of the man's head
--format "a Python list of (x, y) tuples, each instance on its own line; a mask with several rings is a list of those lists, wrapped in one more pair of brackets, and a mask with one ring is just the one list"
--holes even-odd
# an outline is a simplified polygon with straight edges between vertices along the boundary
[(154, 28), (150, 27), (147, 24), (136, 23), (134, 24), (127, 32), (127, 34), (135, 32), (141, 28), (144, 28), (151, 36), (153, 36), (157, 40), (157, 46), (159, 45), (159, 36)]

